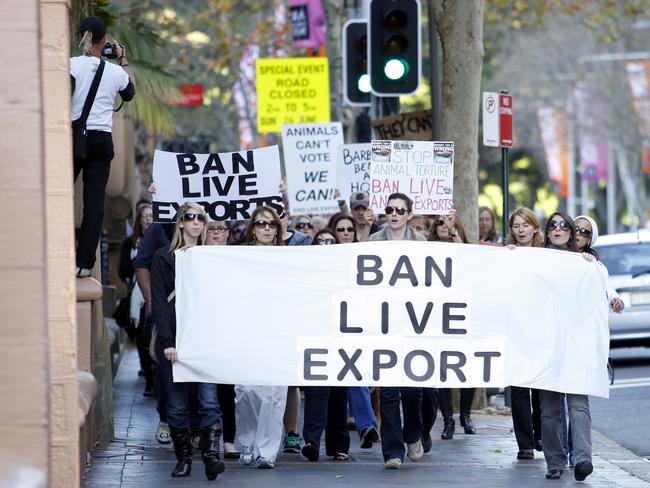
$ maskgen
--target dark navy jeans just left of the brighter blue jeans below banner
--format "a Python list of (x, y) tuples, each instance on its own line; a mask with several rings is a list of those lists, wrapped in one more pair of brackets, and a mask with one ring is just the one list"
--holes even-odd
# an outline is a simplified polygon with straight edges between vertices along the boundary
[(345, 386), (306, 386), (305, 421), (302, 436), (305, 442), (320, 448), (325, 430), (325, 453), (334, 456), (350, 450), (348, 432), (348, 389)]

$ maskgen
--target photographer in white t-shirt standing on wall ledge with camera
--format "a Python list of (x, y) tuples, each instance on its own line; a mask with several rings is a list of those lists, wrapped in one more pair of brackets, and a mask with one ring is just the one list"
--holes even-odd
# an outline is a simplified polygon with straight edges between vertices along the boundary
[[(79, 28), (83, 54), (70, 59), (74, 179), (83, 171), (83, 218), (77, 244), (77, 277), (90, 276), (104, 220), (104, 196), (113, 159), (113, 105), (119, 93), (128, 102), (135, 78), (126, 49), (106, 43), (106, 27), (98, 17), (86, 17)], [(107, 63), (104, 55), (119, 64)], [(99, 73), (98, 73), (99, 71)], [(93, 81), (97, 74), (98, 80)], [(97, 82), (99, 83), (97, 85)], [(85, 108), (85, 110), (84, 110)]]

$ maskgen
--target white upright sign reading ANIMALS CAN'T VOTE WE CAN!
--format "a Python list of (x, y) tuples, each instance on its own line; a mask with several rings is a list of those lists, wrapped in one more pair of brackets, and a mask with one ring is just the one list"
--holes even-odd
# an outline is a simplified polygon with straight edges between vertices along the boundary
[(340, 122), (282, 126), (282, 153), (292, 215), (339, 211), (336, 162), (343, 145)]

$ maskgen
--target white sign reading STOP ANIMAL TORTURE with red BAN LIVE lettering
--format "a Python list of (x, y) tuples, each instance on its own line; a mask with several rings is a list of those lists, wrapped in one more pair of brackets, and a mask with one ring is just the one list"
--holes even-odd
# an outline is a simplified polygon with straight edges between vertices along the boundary
[(391, 193), (413, 200), (413, 213), (446, 215), (453, 208), (454, 143), (372, 141), (370, 208), (383, 211)]

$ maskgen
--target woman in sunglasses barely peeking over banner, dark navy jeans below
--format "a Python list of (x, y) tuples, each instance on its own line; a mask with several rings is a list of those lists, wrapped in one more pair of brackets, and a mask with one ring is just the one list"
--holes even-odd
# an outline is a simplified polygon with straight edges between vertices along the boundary
[[(331, 229), (319, 231), (312, 245), (336, 244)], [(348, 387), (347, 386), (305, 386), (305, 415), (302, 437), (305, 445), (302, 455), (309, 461), (320, 457), (320, 439), (325, 431), (325, 453), (334, 461), (347, 461), (350, 449), (348, 431)]]

